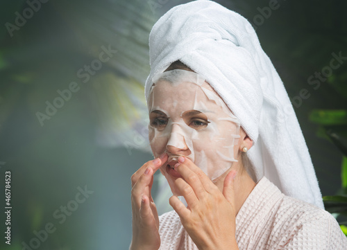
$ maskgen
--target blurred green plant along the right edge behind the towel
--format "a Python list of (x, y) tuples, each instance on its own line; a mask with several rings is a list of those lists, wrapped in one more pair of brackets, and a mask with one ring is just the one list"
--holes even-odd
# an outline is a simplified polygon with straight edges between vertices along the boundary
[[(313, 110), (310, 120), (319, 124), (317, 136), (328, 139), (343, 154), (341, 164), (341, 189), (336, 195), (324, 196), (325, 210), (347, 217), (347, 110)], [(342, 231), (347, 235), (347, 221), (340, 222)]]

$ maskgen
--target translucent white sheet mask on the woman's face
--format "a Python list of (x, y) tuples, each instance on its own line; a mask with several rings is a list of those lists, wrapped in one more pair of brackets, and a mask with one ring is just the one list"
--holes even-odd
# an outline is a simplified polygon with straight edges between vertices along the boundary
[[(149, 141), (155, 157), (167, 152), (172, 167), (183, 155), (212, 181), (237, 161), (239, 120), (201, 75), (180, 69), (155, 75), (149, 96)], [(165, 164), (160, 171), (175, 194), (176, 175), (169, 174), (174, 170)]]

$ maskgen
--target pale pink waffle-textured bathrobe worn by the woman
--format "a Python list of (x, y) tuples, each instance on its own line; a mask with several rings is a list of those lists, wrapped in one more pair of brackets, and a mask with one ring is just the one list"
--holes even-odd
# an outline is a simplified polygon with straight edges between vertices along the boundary
[[(175, 211), (160, 216), (159, 233), (160, 250), (198, 249)], [(347, 249), (347, 238), (330, 213), (283, 195), (266, 177), (237, 213), (236, 240), (240, 250)]]

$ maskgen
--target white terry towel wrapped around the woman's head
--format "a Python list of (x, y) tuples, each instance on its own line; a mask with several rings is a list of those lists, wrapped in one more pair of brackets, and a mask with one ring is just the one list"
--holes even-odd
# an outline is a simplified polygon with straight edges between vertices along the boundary
[(285, 195), (323, 208), (321, 192), (298, 120), (282, 80), (251, 24), (213, 1), (176, 6), (153, 26), (151, 72), (180, 60), (203, 75), (253, 140), (247, 152), (257, 180), (266, 176)]

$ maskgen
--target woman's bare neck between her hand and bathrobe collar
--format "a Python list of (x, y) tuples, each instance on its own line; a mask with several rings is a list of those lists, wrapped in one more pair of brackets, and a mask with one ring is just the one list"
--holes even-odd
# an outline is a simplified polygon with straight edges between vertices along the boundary
[[(221, 190), (221, 192), (223, 192), (224, 179), (226, 175), (228, 175), (228, 172), (230, 172), (230, 170), (219, 177), (214, 183), (219, 188), (219, 190)], [(234, 179), (236, 213), (239, 213), (240, 208), (246, 201), (248, 195), (252, 192), (255, 185), (255, 181), (253, 181), (253, 179), (248, 175), (248, 172), (246, 170), (239, 169), (239, 172), (237, 172), (237, 175)]]

